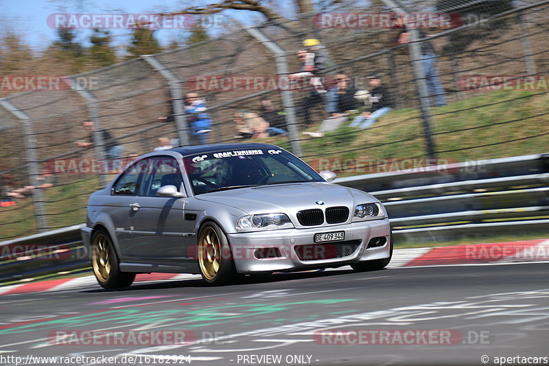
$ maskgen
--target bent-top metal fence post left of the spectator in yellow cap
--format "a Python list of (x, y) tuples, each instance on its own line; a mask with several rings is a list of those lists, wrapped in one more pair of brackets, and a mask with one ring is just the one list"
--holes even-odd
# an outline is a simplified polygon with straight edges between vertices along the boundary
[[(271, 41), (267, 36), (261, 33), (255, 27), (246, 27), (246, 31), (253, 36), (259, 43), (267, 47), (267, 49), (274, 55), (274, 60), (277, 63), (277, 75), (288, 76), (290, 71), (288, 69), (288, 61), (286, 60), (286, 52), (274, 41)], [(301, 144), (299, 144), (299, 130), (297, 128), (296, 110), (294, 105), (294, 97), (291, 90), (282, 90), (282, 106), (286, 113), (286, 124), (288, 126), (288, 132), (290, 132), (290, 144), (292, 146), (292, 152), (301, 157)]]

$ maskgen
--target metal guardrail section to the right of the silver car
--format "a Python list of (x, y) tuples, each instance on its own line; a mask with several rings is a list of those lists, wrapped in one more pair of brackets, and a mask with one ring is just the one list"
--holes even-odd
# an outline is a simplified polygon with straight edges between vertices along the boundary
[(549, 233), (549, 154), (351, 176), (334, 183), (379, 198), (395, 242)]

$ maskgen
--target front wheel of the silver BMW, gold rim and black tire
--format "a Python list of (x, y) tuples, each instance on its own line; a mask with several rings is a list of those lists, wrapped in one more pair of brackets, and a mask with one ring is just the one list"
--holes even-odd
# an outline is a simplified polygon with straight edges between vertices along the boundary
[(223, 286), (237, 282), (229, 240), (215, 222), (206, 222), (198, 233), (198, 268), (206, 284)]

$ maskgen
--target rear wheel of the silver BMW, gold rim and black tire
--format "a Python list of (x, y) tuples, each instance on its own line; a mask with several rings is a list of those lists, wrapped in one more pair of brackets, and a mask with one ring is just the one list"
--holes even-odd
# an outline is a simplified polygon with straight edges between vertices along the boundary
[(135, 279), (135, 273), (120, 271), (113, 240), (102, 227), (95, 229), (91, 237), (91, 266), (103, 288), (125, 288)]

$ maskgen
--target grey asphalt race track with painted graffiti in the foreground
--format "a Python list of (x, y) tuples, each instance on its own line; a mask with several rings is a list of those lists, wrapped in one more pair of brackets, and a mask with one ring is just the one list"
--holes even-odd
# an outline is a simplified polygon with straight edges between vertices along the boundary
[[(141, 356), (131, 362), (137, 365), (496, 365), (501, 357), (514, 357), (507, 365), (522, 357), (544, 364), (548, 268), (326, 270), (246, 277), (218, 288), (187, 279), (122, 291), (93, 286), (8, 295), (0, 298), (0, 364), (15, 365), (14, 357), (21, 357), (19, 365), (50, 364), (38, 363), (37, 356), (118, 356), (117, 365), (124, 356), (126, 363), (128, 356)], [(56, 344), (60, 332), (74, 330), (79, 337), (73, 343)], [(121, 345), (94, 337), (97, 344), (84, 345), (81, 331), (97, 330), (185, 331), (185, 341), (192, 342), (149, 345), (125, 338)], [(369, 338), (358, 342), (353, 334)]]

